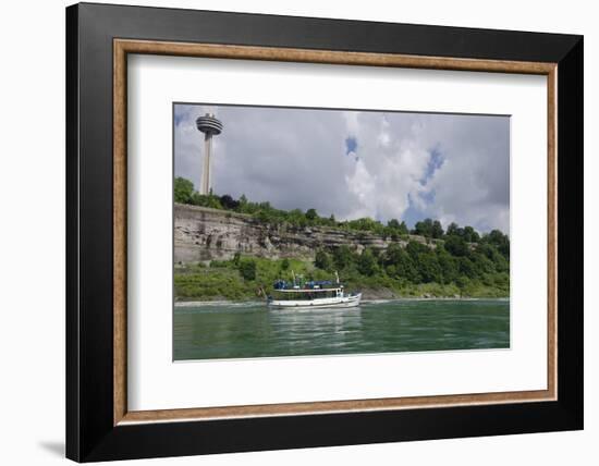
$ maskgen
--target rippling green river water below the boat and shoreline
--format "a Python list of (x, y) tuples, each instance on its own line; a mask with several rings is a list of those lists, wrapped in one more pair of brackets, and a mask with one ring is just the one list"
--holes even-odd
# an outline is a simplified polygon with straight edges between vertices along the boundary
[(174, 358), (211, 359), (510, 346), (510, 303), (390, 301), (347, 309), (264, 303), (176, 307)]

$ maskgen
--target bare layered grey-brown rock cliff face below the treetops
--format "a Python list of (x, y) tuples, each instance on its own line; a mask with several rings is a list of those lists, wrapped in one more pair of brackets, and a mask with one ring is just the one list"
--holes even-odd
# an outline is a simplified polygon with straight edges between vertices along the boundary
[[(411, 240), (425, 243), (421, 236)], [(319, 248), (347, 245), (386, 249), (392, 242), (367, 232), (347, 232), (326, 226), (276, 226), (243, 214), (206, 207), (174, 205), (175, 263), (232, 259), (242, 255), (279, 259), (314, 259)], [(405, 246), (405, 242), (400, 242)]]

